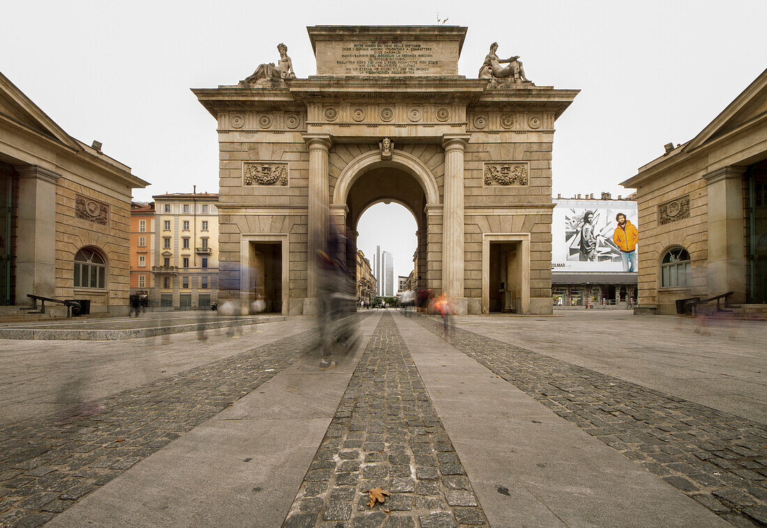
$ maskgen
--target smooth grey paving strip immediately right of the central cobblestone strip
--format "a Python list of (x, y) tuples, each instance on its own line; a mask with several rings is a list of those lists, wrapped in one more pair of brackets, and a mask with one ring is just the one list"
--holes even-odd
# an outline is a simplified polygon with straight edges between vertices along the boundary
[(395, 320), (492, 526), (729, 526), (421, 325)]

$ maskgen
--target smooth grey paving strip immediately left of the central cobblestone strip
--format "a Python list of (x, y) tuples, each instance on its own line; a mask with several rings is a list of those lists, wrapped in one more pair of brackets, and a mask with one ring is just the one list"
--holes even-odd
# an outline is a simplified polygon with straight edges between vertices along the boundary
[(304, 356), (47, 526), (280, 526), (361, 354)]

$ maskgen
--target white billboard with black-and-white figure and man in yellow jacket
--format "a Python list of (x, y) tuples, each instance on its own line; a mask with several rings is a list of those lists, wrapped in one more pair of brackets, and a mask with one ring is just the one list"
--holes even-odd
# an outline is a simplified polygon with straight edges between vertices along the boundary
[[(551, 271), (625, 272), (630, 262), (621, 258), (614, 241), (631, 239), (637, 227), (637, 203), (632, 200), (554, 200), (551, 221)], [(627, 223), (618, 226), (615, 217), (622, 213)], [(632, 227), (633, 226), (633, 227)], [(636, 271), (636, 269), (634, 269)]]

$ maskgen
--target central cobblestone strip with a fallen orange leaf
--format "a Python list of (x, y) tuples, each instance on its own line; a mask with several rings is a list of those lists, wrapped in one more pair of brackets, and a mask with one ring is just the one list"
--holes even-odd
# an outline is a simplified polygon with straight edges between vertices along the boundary
[[(366, 490), (385, 503), (368, 506)], [(488, 526), (391, 314), (354, 370), (285, 528)]]

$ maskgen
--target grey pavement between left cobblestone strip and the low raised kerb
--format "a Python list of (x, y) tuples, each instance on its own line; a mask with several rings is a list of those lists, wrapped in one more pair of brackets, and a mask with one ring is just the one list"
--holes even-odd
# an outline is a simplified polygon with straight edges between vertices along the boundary
[(77, 405), (316, 328), (310, 318), (130, 342), (0, 340), (0, 427)]

